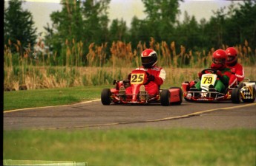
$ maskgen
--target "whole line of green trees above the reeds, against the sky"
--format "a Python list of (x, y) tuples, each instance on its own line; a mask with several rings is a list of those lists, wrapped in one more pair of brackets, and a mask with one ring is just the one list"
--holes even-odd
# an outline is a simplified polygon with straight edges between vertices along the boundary
[[(236, 7), (233, 3), (213, 11), (209, 21), (205, 18), (197, 22), (194, 15), (185, 13), (183, 21), (179, 6), (183, 0), (142, 0), (145, 19), (136, 16), (128, 26), (123, 19), (108, 18), (111, 0), (62, 0), (62, 10), (50, 14), (52, 24), (44, 28), (47, 32), (44, 41), (57, 57), (64, 56), (63, 49), (68, 43), (82, 41), (85, 55), (90, 44), (108, 44), (116, 41), (131, 43), (137, 48), (139, 43), (150, 47), (150, 40), (175, 41), (193, 52), (219, 49), (221, 46), (235, 46), (248, 42), (252, 50), (256, 49), (256, 1), (243, 1)], [(33, 15), (22, 10), (24, 1), (10, 0), (4, 9), (4, 45), (17, 50), (17, 40), (23, 48), (36, 43), (36, 28)], [(227, 11), (227, 12), (226, 12)], [(19, 45), (19, 44), (18, 44)], [(106, 58), (111, 56), (107, 50)]]

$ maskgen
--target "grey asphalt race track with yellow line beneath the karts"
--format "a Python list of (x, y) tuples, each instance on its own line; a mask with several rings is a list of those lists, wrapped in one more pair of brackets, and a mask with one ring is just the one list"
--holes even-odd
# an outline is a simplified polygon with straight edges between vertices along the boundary
[(68, 106), (4, 111), (4, 130), (108, 128), (256, 128), (256, 103), (189, 103), (180, 106), (115, 105), (100, 100)]

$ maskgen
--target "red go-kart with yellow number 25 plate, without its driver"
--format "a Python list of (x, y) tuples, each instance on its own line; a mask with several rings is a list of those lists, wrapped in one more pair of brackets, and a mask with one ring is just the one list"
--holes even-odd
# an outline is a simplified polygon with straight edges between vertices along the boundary
[[(131, 72), (131, 80), (114, 80), (114, 89), (102, 89), (101, 101), (103, 105), (111, 103), (122, 104), (148, 104), (161, 103), (162, 106), (170, 104), (180, 105), (183, 102), (183, 91), (180, 88), (158, 89), (157, 95), (148, 94), (148, 91), (141, 89), (142, 85), (148, 83), (148, 75), (145, 71), (134, 70)], [(123, 87), (131, 86), (132, 93), (125, 94)], [(142, 86), (143, 87), (143, 86)]]

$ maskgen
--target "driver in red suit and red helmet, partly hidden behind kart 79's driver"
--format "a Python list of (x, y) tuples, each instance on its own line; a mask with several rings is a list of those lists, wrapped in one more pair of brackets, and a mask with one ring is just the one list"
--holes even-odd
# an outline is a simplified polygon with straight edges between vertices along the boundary
[(244, 79), (243, 66), (240, 63), (237, 63), (237, 50), (233, 47), (226, 49), (226, 55), (228, 56), (226, 65), (232, 72), (232, 76), (229, 80), (229, 86), (234, 87)]

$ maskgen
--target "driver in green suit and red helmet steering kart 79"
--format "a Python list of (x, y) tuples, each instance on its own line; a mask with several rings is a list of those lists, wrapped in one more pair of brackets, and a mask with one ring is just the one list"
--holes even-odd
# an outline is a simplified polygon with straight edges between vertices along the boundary
[[(232, 75), (230, 69), (226, 67), (226, 60), (226, 52), (223, 49), (217, 49), (212, 55), (211, 69), (217, 69), (217, 80), (215, 82), (214, 89), (220, 93), (223, 93), (229, 86), (229, 78)], [(198, 76), (201, 78), (202, 73), (198, 73)], [(200, 81), (197, 82), (194, 86), (198, 90), (202, 90), (200, 88)]]

